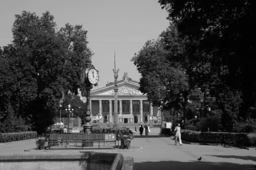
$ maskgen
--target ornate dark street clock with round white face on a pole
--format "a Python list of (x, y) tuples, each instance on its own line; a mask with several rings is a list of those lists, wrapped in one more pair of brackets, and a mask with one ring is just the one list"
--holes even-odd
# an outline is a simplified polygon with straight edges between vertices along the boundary
[[(80, 81), (81, 84), (86, 84), (86, 93), (87, 93), (87, 101), (86, 101), (86, 112), (85, 112), (85, 125), (84, 125), (84, 133), (90, 134), (92, 133), (93, 125), (90, 125), (90, 89), (91, 86), (96, 84), (99, 80), (98, 71), (91, 65), (90, 59), (87, 59), (86, 68), (82, 68), (80, 72)], [(83, 147), (91, 147), (93, 143), (83, 144)]]

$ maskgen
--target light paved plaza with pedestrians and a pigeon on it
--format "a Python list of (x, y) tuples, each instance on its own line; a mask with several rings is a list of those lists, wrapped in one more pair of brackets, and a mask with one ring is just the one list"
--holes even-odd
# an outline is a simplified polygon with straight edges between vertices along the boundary
[[(256, 170), (256, 150), (212, 145), (174, 145), (173, 136), (151, 128), (148, 138), (137, 133), (131, 146), (143, 150), (98, 150), (134, 157), (134, 170)], [(0, 144), (0, 152), (23, 152), (35, 148), (35, 139)], [(73, 150), (70, 150), (73, 151)], [(78, 150), (76, 150), (78, 151)], [(97, 150), (95, 150), (97, 151)], [(202, 160), (197, 159), (202, 156)]]

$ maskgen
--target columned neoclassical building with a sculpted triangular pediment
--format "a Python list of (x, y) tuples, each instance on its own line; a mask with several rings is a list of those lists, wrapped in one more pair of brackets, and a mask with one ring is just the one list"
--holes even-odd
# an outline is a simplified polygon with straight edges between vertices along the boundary
[[(149, 122), (152, 116), (155, 120), (160, 116), (158, 108), (152, 106), (147, 96), (138, 90), (139, 87), (139, 82), (129, 78), (127, 73), (117, 82), (118, 122)], [(114, 82), (110, 82), (106, 87), (90, 92), (91, 116), (101, 118), (100, 122), (113, 122), (114, 88)], [(82, 98), (82, 101), (84, 99)]]

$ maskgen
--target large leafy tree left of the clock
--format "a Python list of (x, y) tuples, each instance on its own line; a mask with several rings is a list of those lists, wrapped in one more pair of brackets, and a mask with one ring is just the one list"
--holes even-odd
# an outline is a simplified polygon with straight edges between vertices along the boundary
[[(9, 62), (13, 60), (16, 66), (22, 68), (18, 72), (15, 70), (15, 75), (21, 75), (20, 79), (24, 81), (24, 87), (28, 87), (28, 92), (22, 88), (17, 88), (17, 92), (32, 95), (28, 96), (26, 105), (19, 102), (10, 105), (12, 109), (23, 106), (23, 113), (14, 112), (23, 116), (32, 115), (37, 130), (41, 131), (52, 125), (63, 92), (77, 94), (78, 88), (83, 88), (79, 82), (80, 68), (93, 54), (87, 48), (87, 31), (82, 26), (66, 24), (58, 30), (54, 17), (48, 11), (41, 17), (23, 11), (15, 18), (13, 43), (4, 48), (3, 54)], [(3, 108), (3, 111), (6, 109)]]

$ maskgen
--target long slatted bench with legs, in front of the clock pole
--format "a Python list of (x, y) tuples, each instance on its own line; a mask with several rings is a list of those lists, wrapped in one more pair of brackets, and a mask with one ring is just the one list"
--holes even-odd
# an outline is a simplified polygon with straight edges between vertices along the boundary
[(83, 144), (88, 144), (91, 142), (103, 142), (105, 145), (105, 142), (107, 143), (115, 143), (116, 148), (116, 134), (112, 133), (91, 133), (91, 134), (76, 134), (76, 133), (62, 133), (62, 134), (50, 134), (48, 139), (48, 145), (49, 148), (51, 147), (51, 143), (65, 143), (65, 149), (67, 149), (67, 143), (82, 143), (82, 149)]

